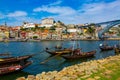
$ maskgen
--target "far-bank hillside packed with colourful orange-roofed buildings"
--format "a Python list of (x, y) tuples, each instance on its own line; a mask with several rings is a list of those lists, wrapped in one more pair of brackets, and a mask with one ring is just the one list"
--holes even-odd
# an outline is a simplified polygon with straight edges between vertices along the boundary
[[(23, 22), (21, 26), (9, 27), (0, 25), (0, 41), (9, 40), (98, 40), (98, 32), (104, 29), (101, 25), (90, 24), (64, 24), (53, 18), (45, 18), (40, 24)], [(120, 38), (120, 25), (109, 29), (104, 35), (110, 38)]]

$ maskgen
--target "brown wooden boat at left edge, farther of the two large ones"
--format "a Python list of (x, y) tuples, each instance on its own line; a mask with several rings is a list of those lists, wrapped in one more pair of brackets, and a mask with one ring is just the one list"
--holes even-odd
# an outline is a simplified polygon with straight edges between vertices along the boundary
[(18, 56), (18, 57), (5, 57), (0, 58), (0, 64), (3, 63), (13, 63), (13, 62), (19, 62), (21, 60), (27, 60), (31, 58), (33, 55), (25, 55), (25, 56)]

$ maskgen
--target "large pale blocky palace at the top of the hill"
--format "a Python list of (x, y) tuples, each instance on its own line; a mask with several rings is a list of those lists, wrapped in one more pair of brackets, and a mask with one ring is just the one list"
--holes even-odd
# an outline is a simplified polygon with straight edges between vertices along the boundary
[(45, 18), (42, 19), (42, 24), (41, 27), (51, 27), (54, 24), (54, 19), (53, 18)]

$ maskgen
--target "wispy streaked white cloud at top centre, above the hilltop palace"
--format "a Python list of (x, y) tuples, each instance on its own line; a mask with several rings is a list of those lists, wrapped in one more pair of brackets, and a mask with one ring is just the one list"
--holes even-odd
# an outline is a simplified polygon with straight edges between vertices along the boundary
[(52, 14), (58, 14), (58, 15), (71, 15), (75, 14), (76, 11), (68, 6), (58, 6), (62, 3), (62, 0), (58, 0), (56, 2), (53, 2), (48, 5), (43, 5), (41, 7), (37, 7), (33, 9), (34, 12), (47, 12)]

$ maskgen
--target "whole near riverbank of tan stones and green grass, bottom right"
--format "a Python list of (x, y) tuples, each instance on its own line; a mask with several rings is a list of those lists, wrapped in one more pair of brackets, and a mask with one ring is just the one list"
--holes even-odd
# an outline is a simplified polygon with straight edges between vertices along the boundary
[(42, 72), (28, 75), (16, 80), (120, 80), (120, 55), (110, 56), (101, 60), (91, 60), (61, 71)]

